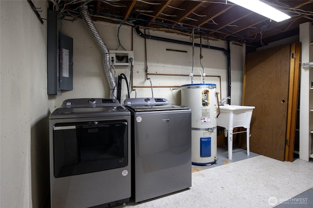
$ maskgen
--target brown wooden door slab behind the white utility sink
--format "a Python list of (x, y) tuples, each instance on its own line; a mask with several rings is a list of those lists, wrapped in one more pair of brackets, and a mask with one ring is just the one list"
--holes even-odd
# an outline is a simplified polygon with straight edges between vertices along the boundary
[(246, 55), (243, 104), (255, 106), (250, 151), (285, 160), (291, 45)]

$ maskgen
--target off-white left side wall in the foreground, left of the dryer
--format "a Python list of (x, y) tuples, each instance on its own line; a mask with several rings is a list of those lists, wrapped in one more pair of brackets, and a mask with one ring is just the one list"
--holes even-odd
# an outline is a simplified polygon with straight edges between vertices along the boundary
[[(46, 1), (33, 1), (46, 18)], [(49, 190), (47, 24), (25, 0), (0, 1), (0, 207), (43, 207)]]

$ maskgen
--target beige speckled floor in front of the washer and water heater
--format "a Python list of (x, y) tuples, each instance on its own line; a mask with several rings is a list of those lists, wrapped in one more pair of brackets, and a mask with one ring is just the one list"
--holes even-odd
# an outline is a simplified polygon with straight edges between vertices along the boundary
[(312, 162), (281, 162), (260, 155), (194, 172), (190, 189), (119, 207), (270, 208), (312, 187)]

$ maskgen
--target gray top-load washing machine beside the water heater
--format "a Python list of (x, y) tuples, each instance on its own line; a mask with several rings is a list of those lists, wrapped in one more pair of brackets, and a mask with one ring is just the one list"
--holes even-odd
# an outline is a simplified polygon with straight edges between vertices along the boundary
[(191, 187), (191, 110), (164, 98), (130, 98), (135, 202)]

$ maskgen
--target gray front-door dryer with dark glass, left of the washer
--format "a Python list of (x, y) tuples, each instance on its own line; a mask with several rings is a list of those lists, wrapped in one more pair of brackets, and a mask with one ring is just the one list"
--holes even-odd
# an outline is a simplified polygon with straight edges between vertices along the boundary
[(65, 100), (50, 115), (51, 208), (112, 207), (131, 197), (131, 113), (116, 99)]

